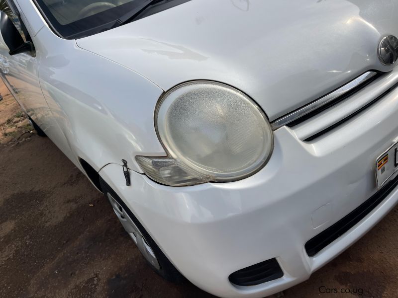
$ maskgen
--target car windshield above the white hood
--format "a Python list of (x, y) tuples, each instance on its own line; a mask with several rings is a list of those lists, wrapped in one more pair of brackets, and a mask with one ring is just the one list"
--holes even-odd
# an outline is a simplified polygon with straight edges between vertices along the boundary
[[(151, 10), (159, 12), (189, 0), (163, 0)], [(120, 25), (117, 20), (149, 0), (36, 0), (53, 30), (63, 38), (93, 35)], [(159, 9), (161, 7), (161, 9)]]

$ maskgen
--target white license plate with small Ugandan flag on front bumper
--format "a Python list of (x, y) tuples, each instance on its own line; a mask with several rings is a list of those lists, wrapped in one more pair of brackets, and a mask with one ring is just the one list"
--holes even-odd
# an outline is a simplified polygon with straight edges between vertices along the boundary
[(398, 142), (376, 160), (377, 188), (381, 188), (398, 174)]

